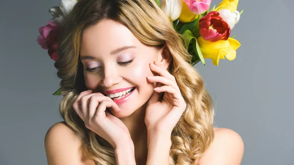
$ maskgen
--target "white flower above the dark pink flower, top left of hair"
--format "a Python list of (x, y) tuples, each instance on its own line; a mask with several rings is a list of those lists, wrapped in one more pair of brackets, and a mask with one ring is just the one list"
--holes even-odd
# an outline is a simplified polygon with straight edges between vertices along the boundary
[(49, 12), (53, 16), (54, 21), (63, 24), (65, 17), (72, 11), (76, 2), (77, 0), (61, 0), (59, 6), (51, 7)]

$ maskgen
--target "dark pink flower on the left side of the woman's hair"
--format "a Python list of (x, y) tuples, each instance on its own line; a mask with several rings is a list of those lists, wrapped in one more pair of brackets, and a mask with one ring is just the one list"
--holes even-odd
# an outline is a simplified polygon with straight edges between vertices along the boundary
[(40, 36), (37, 38), (37, 43), (44, 49), (48, 49), (50, 58), (54, 61), (59, 59), (58, 56), (58, 37), (60, 34), (60, 26), (58, 23), (47, 21), (46, 26), (39, 28)]

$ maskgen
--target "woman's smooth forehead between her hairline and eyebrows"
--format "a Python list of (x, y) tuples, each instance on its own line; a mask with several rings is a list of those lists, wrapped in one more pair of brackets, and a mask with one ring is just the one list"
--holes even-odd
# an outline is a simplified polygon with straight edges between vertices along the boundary
[(83, 54), (109, 54), (111, 50), (124, 46), (142, 47), (143, 44), (123, 24), (102, 20), (88, 27), (82, 35)]

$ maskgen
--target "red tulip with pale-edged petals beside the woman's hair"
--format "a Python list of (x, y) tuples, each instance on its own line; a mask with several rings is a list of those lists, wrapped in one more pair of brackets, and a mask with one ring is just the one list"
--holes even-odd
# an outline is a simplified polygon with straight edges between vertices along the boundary
[(231, 34), (230, 26), (223, 21), (220, 13), (211, 11), (199, 20), (200, 34), (204, 40), (217, 42), (227, 40)]

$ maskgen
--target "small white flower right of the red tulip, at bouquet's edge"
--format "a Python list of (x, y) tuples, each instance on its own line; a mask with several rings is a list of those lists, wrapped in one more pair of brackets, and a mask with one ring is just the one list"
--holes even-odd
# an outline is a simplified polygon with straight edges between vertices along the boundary
[(231, 29), (233, 29), (235, 24), (237, 24), (240, 20), (240, 13), (237, 10), (231, 12), (229, 9), (221, 9), (219, 13), (220, 17), (230, 26)]

